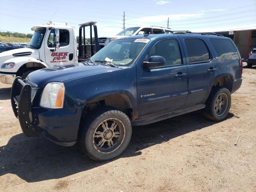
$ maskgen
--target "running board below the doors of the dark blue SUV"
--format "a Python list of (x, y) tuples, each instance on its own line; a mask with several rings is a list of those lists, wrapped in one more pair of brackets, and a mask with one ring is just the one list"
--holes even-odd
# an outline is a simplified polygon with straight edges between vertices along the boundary
[(165, 120), (168, 118), (172, 118), (172, 117), (179, 116), (182, 114), (190, 113), (192, 111), (200, 110), (203, 108), (205, 108), (205, 104), (197, 104), (197, 105), (193, 105), (193, 106), (180, 108), (177, 110), (162, 112), (159, 114), (159, 116), (151, 116), (151, 118), (150, 118), (150, 116), (146, 116), (146, 117), (139, 118), (138, 120), (135, 120), (134, 122), (132, 122), (132, 126), (140, 126), (140, 125), (146, 125), (146, 124), (162, 121), (162, 120)]

